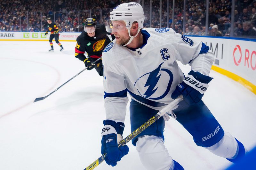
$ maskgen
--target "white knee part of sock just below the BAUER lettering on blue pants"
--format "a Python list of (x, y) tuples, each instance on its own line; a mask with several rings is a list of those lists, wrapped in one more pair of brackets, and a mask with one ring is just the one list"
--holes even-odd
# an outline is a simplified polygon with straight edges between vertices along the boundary
[(232, 158), (236, 155), (238, 144), (236, 139), (228, 132), (225, 132), (220, 141), (210, 147), (207, 147), (210, 152), (223, 158)]

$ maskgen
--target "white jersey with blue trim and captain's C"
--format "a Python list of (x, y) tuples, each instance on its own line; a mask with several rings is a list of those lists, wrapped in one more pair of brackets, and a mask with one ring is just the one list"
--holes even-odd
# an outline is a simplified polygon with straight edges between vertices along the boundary
[(177, 60), (191, 70), (209, 75), (213, 52), (171, 28), (141, 30), (143, 45), (129, 49), (110, 42), (102, 53), (106, 118), (124, 122), (127, 92), (132, 99), (161, 110), (172, 102), (171, 94), (184, 79)]

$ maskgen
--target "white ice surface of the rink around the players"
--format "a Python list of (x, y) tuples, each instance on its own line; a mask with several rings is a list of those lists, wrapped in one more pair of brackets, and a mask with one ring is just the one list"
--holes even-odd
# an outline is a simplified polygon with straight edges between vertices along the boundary
[[(98, 159), (105, 119), (102, 77), (85, 70), (58, 91), (44, 97), (84, 69), (74, 57), (76, 42), (62, 42), (64, 51), (47, 41), (0, 41), (0, 169), (82, 170)], [(189, 66), (181, 66), (187, 74)], [(256, 96), (239, 83), (211, 71), (214, 77), (204, 102), (221, 126), (248, 150), (255, 145)], [(128, 105), (129, 106), (129, 105)], [(129, 113), (129, 107), (127, 107)], [(126, 115), (124, 137), (130, 132)], [(165, 125), (165, 145), (173, 159), (187, 170), (220, 170), (231, 165), (196, 146), (174, 119)], [(117, 166), (104, 162), (95, 169), (145, 169), (136, 152)]]

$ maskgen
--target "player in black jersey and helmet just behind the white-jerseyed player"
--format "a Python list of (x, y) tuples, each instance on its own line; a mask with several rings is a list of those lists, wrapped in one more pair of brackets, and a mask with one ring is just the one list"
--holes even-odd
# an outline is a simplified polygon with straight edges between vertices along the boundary
[(84, 62), (87, 70), (95, 68), (99, 75), (103, 76), (102, 60), (95, 65), (92, 63), (101, 57), (104, 48), (114, 39), (115, 36), (107, 33), (104, 24), (96, 25), (94, 18), (87, 18), (84, 31), (76, 39), (75, 57)]

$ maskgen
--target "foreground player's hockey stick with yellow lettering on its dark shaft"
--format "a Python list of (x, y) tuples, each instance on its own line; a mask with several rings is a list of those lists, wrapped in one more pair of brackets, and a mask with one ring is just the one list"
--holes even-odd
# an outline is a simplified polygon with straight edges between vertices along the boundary
[[(166, 112), (170, 111), (174, 106), (176, 106), (182, 100), (183, 100), (183, 96), (180, 95), (177, 99), (173, 100), (170, 104), (168, 104), (166, 107), (160, 110), (156, 115), (151, 117), (147, 122), (143, 123), (138, 129), (134, 130), (129, 136), (121, 140), (118, 144), (118, 147), (121, 145), (127, 144), (130, 140), (132, 140), (134, 137), (139, 135), (143, 130), (148, 128), (148, 126), (150, 126), (152, 123), (156, 122), (156, 120), (162, 117)], [(103, 154), (100, 158), (95, 160), (92, 164), (87, 166), (84, 170), (94, 169), (96, 166), (100, 165), (100, 163), (104, 161), (106, 156), (107, 156), (107, 153)]]

